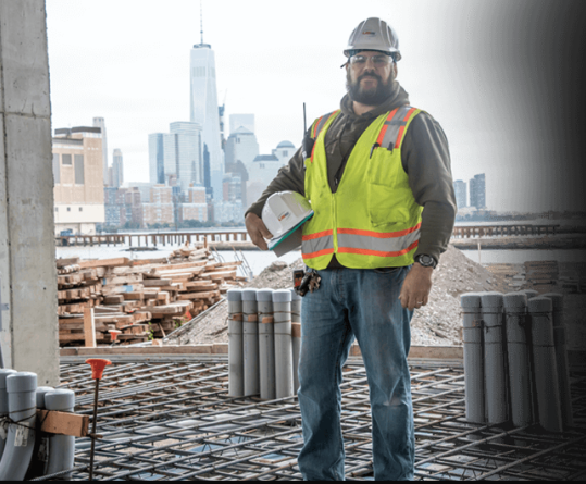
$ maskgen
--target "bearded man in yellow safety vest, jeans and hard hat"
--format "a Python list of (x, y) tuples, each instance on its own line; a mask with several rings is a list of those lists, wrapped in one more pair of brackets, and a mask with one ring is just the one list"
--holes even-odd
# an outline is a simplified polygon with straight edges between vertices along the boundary
[(361, 22), (345, 50), (348, 94), (316, 120), (301, 148), (246, 214), (266, 249), (266, 198), (304, 195), (315, 215), (303, 226), (306, 264), (321, 277), (303, 298), (298, 392), (307, 480), (344, 479), (341, 368), (356, 337), (370, 387), (376, 480), (413, 477), (409, 323), (425, 306), (432, 273), (456, 215), (448, 142), (427, 113), (409, 107), (397, 77), (397, 35)]

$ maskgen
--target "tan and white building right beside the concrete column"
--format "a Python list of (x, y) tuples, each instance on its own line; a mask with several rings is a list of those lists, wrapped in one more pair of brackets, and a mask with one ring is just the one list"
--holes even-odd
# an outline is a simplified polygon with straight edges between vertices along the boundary
[(101, 128), (55, 129), (52, 150), (55, 234), (95, 234), (105, 220)]

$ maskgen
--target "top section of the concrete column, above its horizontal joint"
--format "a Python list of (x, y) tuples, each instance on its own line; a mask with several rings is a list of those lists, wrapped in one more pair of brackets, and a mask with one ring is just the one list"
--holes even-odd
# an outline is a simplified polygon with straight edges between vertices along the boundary
[(45, 2), (0, 2), (4, 111), (50, 116)]

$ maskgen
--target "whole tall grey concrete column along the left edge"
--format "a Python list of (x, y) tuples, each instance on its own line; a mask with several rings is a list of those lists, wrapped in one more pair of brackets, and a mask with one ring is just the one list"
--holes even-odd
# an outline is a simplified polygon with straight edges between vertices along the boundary
[(51, 106), (43, 0), (0, 2), (0, 340), (5, 365), (59, 384)]

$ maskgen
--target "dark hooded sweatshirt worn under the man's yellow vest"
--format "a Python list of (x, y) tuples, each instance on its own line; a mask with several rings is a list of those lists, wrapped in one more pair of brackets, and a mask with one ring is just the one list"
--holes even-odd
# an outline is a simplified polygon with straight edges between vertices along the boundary
[[(348, 95), (341, 99), (341, 113), (334, 120), (325, 136), (327, 178), (332, 193), (336, 191), (350, 152), (366, 127), (381, 114), (403, 104), (409, 104), (409, 97), (397, 82), (394, 95), (387, 101), (361, 116), (354, 114)], [(439, 260), (439, 255), (448, 247), (457, 207), (448, 140), (439, 124), (429, 114), (422, 112), (411, 122), (402, 141), (401, 161), (413, 196), (416, 202), (424, 207), (421, 238), (415, 256), (426, 253)], [(289, 163), (279, 170), (247, 213), (253, 212), (261, 216), (269, 196), (283, 190), (304, 195), (304, 161), (301, 148)], [(334, 259), (331, 266), (340, 265)]]

